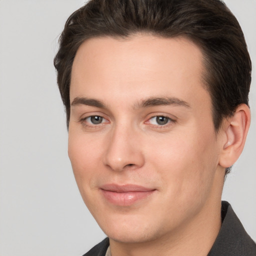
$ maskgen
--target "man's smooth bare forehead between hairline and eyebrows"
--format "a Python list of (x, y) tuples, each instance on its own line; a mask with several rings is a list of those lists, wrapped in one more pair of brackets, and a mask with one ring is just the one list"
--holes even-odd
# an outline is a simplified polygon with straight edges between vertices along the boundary
[(187, 101), (196, 93), (208, 94), (203, 72), (201, 50), (183, 37), (91, 38), (76, 52), (70, 100), (84, 95), (94, 98), (97, 92), (100, 100), (126, 102), (167, 95)]

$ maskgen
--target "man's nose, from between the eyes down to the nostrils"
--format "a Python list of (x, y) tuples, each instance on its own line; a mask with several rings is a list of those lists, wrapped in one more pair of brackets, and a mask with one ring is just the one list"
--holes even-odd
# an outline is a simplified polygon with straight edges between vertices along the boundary
[(115, 126), (107, 138), (103, 163), (114, 171), (138, 168), (144, 164), (139, 132), (124, 125)]

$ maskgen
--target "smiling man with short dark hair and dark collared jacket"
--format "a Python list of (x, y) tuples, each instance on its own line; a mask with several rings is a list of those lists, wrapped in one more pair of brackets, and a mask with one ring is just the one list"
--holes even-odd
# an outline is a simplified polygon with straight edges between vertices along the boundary
[(108, 238), (85, 255), (255, 255), (225, 175), (250, 123), (251, 62), (219, 0), (91, 0), (54, 64), (81, 196)]

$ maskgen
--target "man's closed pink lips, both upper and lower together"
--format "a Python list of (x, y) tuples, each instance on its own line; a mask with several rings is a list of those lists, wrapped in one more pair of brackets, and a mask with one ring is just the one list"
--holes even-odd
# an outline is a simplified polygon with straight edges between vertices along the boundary
[(111, 204), (129, 206), (146, 200), (156, 189), (135, 184), (105, 184), (100, 187), (100, 190)]

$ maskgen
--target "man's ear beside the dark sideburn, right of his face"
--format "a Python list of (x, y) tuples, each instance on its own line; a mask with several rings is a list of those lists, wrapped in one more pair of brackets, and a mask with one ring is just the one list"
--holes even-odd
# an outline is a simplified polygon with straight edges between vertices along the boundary
[(221, 151), (219, 165), (230, 167), (240, 156), (250, 125), (250, 109), (246, 104), (240, 104), (235, 113), (223, 120), (221, 136)]

